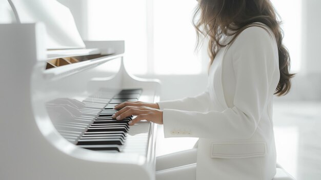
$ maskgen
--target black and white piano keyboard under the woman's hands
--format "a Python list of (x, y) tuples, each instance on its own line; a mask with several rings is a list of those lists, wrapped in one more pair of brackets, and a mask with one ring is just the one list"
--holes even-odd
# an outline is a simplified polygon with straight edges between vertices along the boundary
[(117, 112), (114, 106), (126, 101), (138, 101), (141, 94), (142, 89), (127, 89), (116, 94), (79, 138), (77, 145), (89, 150), (121, 152), (130, 130), (128, 123), (133, 116), (117, 121), (111, 117)]

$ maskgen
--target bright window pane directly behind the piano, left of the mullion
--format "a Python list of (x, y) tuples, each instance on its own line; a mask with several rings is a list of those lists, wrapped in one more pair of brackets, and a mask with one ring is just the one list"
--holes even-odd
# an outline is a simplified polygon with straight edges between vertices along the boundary
[(88, 1), (88, 39), (125, 40), (128, 71), (147, 73), (146, 1)]

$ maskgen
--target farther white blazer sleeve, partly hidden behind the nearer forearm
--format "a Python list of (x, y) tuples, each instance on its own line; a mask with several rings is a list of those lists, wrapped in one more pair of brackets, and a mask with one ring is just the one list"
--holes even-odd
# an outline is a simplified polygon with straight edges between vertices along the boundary
[(186, 97), (173, 101), (161, 101), (157, 103), (159, 109), (176, 109), (185, 111), (206, 112), (209, 110), (210, 95), (205, 91), (195, 97)]

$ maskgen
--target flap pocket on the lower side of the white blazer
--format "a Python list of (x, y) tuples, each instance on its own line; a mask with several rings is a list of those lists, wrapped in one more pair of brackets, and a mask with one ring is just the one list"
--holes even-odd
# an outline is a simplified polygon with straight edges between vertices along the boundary
[(212, 158), (248, 158), (266, 155), (266, 143), (212, 143)]

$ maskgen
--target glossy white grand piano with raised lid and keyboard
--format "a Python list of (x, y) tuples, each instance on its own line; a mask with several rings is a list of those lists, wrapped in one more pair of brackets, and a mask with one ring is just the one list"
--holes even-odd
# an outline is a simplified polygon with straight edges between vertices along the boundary
[[(124, 101), (159, 101), (160, 83), (126, 72), (124, 41), (79, 41), (56, 1), (9, 2), (17, 23), (0, 24), (0, 179), (154, 179), (156, 125), (110, 116)], [(54, 12), (36, 17), (37, 6), (66, 10), (68, 29), (52, 28), (62, 26)]]

